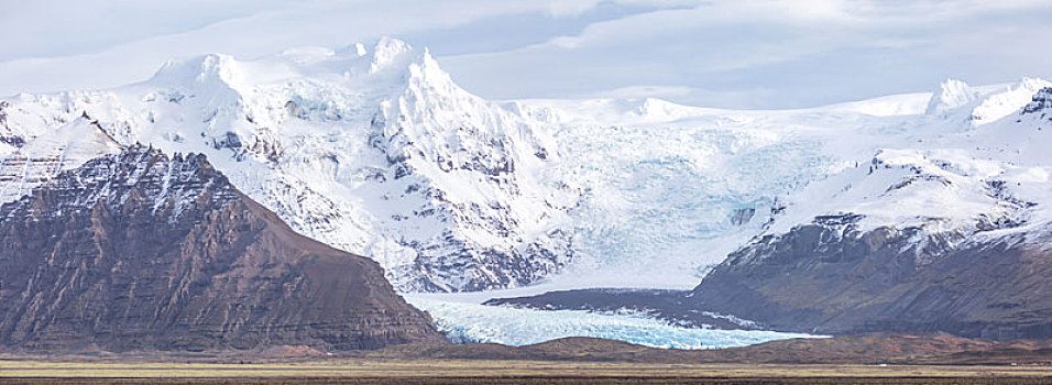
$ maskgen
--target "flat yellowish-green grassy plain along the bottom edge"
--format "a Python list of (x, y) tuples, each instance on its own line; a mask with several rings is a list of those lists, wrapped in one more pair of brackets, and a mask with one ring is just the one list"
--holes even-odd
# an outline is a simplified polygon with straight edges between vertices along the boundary
[(1052, 384), (1043, 365), (638, 364), (509, 360), (0, 361), (0, 383)]

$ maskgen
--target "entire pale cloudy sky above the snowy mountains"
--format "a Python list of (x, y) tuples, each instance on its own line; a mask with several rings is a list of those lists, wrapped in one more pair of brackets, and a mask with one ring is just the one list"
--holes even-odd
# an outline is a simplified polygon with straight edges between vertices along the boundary
[(489, 99), (785, 109), (1052, 78), (1052, 0), (0, 0), (0, 95), (393, 36)]

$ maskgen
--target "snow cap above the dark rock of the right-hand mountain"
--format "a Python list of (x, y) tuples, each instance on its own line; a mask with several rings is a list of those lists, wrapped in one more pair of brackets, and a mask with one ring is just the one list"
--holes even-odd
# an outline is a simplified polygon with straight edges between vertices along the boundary
[(979, 88), (946, 81), (927, 114), (909, 123), (918, 134), (795, 191), (764, 235), (822, 216), (855, 216), (842, 223), (855, 237), (877, 228), (922, 230), (913, 246), (928, 261), (973, 235), (1046, 226), (1049, 95), (1052, 82), (1040, 79)]

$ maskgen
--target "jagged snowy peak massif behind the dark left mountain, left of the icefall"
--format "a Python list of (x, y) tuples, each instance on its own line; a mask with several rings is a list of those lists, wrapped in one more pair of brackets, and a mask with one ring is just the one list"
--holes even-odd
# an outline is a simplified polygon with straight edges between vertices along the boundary
[(538, 173), (543, 123), (457, 87), (401, 41), (206, 55), (105, 91), (0, 105), (3, 199), (116, 144), (205, 153), (295, 230), (371, 255), (402, 290), (533, 282), (562, 266), (573, 191)]

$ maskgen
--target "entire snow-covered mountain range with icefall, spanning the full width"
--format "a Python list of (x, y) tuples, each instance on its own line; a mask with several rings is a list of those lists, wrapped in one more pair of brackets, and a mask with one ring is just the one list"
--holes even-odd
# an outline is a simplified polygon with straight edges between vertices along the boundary
[(938, 248), (1035, 223), (1052, 161), (1032, 130), (1046, 118), (1017, 112), (1049, 85), (947, 81), (736, 111), (486, 101), (392, 38), (206, 55), (118, 89), (0, 100), (0, 189), (9, 201), (92, 154), (150, 143), (207, 154), (295, 230), (373, 257), (403, 292), (689, 288), (815, 218), (923, 228)]

